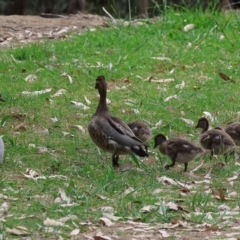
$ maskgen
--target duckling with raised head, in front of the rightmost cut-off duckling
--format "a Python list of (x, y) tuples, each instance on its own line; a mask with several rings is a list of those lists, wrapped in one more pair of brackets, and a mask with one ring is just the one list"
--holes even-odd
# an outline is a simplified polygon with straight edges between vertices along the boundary
[(225, 161), (227, 160), (226, 153), (233, 150), (236, 145), (233, 139), (221, 128), (209, 129), (209, 122), (205, 117), (198, 120), (196, 128), (202, 128), (202, 133), (200, 135), (200, 144), (203, 148), (209, 149), (211, 151), (211, 158), (213, 154), (225, 156)]

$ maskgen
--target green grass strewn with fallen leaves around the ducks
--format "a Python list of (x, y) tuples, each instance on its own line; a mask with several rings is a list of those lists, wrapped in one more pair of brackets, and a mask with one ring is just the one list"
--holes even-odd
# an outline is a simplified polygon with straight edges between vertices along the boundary
[[(204, 184), (195, 186), (196, 192), (181, 196), (179, 186), (163, 185), (157, 181), (164, 175), (182, 182), (193, 178), (182, 174), (183, 166), (165, 171), (163, 165), (169, 159), (152, 149), (153, 140), (150, 141), (153, 153), (144, 161), (146, 166), (140, 164), (141, 171), (134, 165), (129, 171), (118, 172), (111, 167), (111, 154), (101, 150), (99, 154), (87, 133), (87, 126), (98, 104), (94, 89), (98, 75), (104, 75), (108, 81), (112, 114), (126, 122), (136, 119), (147, 121), (150, 127), (159, 120), (163, 121), (163, 125), (153, 130), (153, 135), (164, 133), (173, 137), (175, 131), (188, 134), (186, 137), (197, 141), (198, 131), (180, 118), (197, 122), (203, 111), (216, 117), (214, 126), (238, 120), (240, 39), (236, 36), (240, 33), (239, 21), (238, 13), (169, 11), (155, 23), (119, 24), (71, 35), (68, 40), (2, 49), (0, 90), (6, 102), (1, 103), (0, 118), (9, 117), (1, 128), (6, 153), (0, 168), (0, 189), (9, 199), (0, 198), (0, 205), (8, 202), (9, 210), (5, 221), (1, 222), (0, 234), (7, 237), (6, 228), (21, 225), (33, 236), (48, 238), (60, 234), (68, 239), (79, 222), (97, 223), (103, 206), (112, 206), (115, 215), (123, 220), (132, 218), (169, 223), (174, 219), (185, 219), (185, 213), (166, 210), (159, 214), (159, 209), (141, 213), (139, 210), (160, 200), (167, 203), (179, 198), (182, 200), (179, 204), (189, 211), (187, 220), (217, 225), (220, 221), (217, 214), (211, 221), (206, 220), (205, 215), (194, 215), (195, 211), (217, 213), (219, 205), (223, 204), (205, 192)], [(190, 23), (195, 24), (195, 28), (184, 32), (183, 27)], [(222, 40), (221, 36), (224, 36)], [(171, 60), (161, 61), (152, 57)], [(100, 67), (97, 67), (97, 62), (101, 63)], [(111, 69), (109, 64), (112, 64)], [(64, 72), (73, 78), (72, 84), (62, 76)], [(223, 81), (218, 72), (230, 76), (236, 83)], [(37, 80), (26, 82), (24, 79), (29, 74), (37, 75)], [(150, 76), (153, 80), (173, 78), (174, 81), (163, 84), (144, 81)], [(182, 81), (185, 87), (182, 90), (175, 88)], [(123, 86), (125, 90), (116, 90), (116, 87)], [(46, 88), (52, 91), (38, 96), (22, 94), (23, 91)], [(59, 89), (65, 89), (66, 94), (53, 97)], [(175, 94), (177, 100), (164, 101)], [(71, 105), (71, 101), (87, 105), (84, 96), (91, 101), (88, 110)], [(129, 101), (132, 105), (126, 104)], [(135, 114), (134, 109), (140, 113)], [(25, 117), (16, 119), (12, 117), (13, 113), (25, 114)], [(58, 122), (51, 120), (54, 117)], [(24, 126), (24, 131), (18, 132), (20, 125)], [(81, 125), (86, 133), (73, 128), (74, 125)], [(49, 134), (36, 133), (36, 128), (46, 128)], [(62, 132), (74, 136), (64, 136)], [(38, 154), (38, 149), (29, 144), (47, 147), (49, 152)], [(219, 159), (223, 161), (222, 157)], [(124, 161), (132, 159), (121, 156), (120, 162)], [(209, 162), (206, 158), (203, 166), (195, 172), (197, 180), (204, 179), (215, 163), (217, 160)], [(191, 162), (189, 171), (199, 164), (199, 160)], [(46, 179), (25, 179), (23, 173), (26, 169), (34, 170)], [(213, 190), (222, 188), (227, 192), (238, 192), (240, 184), (236, 181), (231, 186), (226, 180), (236, 171), (239, 171), (239, 166), (230, 157), (223, 168), (213, 168), (211, 183), (207, 186)], [(66, 178), (50, 178), (54, 175)], [(134, 191), (121, 197), (129, 187)], [(64, 202), (54, 201), (59, 197), (59, 188), (64, 189), (74, 205), (63, 207), (61, 204)], [(162, 191), (152, 194), (158, 188)], [(239, 197), (237, 195), (234, 201), (224, 203), (233, 209), (239, 206)], [(76, 218), (68, 220), (62, 227), (53, 227), (53, 232), (48, 232), (44, 226), (47, 218), (57, 220), (70, 215)], [(79, 228), (82, 232), (88, 231), (87, 227)]]

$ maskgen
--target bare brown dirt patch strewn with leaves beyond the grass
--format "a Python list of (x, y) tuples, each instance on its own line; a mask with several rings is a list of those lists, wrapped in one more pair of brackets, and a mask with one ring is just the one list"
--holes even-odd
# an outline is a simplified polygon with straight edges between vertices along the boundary
[(0, 16), (0, 46), (29, 43), (41, 39), (64, 38), (68, 32), (108, 26), (108, 19), (92, 14), (76, 14), (62, 18), (40, 16)]

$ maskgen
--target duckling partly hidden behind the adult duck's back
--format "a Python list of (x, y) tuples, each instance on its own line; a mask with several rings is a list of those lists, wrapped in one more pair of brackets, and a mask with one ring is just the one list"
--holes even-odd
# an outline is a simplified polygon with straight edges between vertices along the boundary
[(131, 128), (135, 136), (144, 143), (147, 143), (152, 137), (151, 129), (142, 121), (129, 122), (128, 126)]

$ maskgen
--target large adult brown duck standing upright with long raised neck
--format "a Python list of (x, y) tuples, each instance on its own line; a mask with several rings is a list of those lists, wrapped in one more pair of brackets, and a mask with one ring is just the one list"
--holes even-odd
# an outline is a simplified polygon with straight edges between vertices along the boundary
[(97, 77), (95, 88), (98, 89), (100, 100), (88, 125), (92, 141), (101, 149), (113, 153), (114, 167), (119, 167), (119, 155), (122, 154), (133, 152), (140, 157), (149, 156), (142, 148), (145, 144), (134, 135), (130, 127), (109, 113), (106, 102), (107, 83), (104, 76)]

